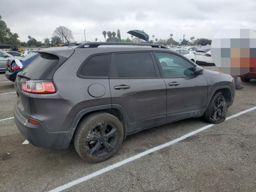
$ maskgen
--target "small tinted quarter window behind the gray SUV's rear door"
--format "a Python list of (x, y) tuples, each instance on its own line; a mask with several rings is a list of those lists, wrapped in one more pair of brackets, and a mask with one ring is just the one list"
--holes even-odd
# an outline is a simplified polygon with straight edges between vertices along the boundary
[(108, 78), (109, 66), (110, 54), (92, 56), (82, 65), (78, 76), (82, 78)]

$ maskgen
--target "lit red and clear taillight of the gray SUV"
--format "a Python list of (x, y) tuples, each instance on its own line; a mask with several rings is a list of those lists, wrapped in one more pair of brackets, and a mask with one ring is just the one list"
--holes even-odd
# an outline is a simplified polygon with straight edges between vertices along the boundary
[(28, 93), (47, 94), (55, 93), (55, 87), (52, 82), (36, 82), (24, 81), (22, 83), (22, 90)]

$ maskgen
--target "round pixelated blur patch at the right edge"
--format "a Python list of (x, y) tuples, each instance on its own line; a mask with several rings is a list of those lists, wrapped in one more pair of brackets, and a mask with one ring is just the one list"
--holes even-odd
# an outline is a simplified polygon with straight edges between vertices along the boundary
[(244, 25), (229, 25), (212, 39), (214, 64), (224, 73), (243, 75), (256, 67), (256, 31)]

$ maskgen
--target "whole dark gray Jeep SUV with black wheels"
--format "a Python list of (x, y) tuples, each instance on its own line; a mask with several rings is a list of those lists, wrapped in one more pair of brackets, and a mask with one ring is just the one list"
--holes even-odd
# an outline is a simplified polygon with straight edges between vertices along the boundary
[(73, 141), (90, 162), (110, 158), (127, 135), (147, 128), (200, 116), (220, 123), (234, 100), (230, 75), (157, 44), (95, 42), (39, 53), (16, 78), (16, 125), (37, 147)]

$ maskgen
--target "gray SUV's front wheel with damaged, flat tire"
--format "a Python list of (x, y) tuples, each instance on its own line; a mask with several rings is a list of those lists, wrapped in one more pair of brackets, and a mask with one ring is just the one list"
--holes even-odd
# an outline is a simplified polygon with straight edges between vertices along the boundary
[(226, 113), (227, 104), (225, 98), (222, 95), (222, 92), (216, 92), (214, 96), (212, 96), (212, 99), (206, 109), (206, 112), (204, 113), (204, 118), (209, 123), (218, 124), (226, 119)]

